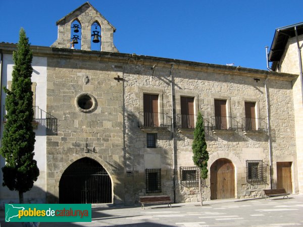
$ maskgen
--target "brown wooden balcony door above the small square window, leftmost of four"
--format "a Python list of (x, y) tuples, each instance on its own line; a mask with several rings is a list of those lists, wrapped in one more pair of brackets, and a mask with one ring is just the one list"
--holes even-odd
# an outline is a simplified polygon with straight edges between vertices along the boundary
[(159, 127), (158, 95), (143, 95), (144, 126)]

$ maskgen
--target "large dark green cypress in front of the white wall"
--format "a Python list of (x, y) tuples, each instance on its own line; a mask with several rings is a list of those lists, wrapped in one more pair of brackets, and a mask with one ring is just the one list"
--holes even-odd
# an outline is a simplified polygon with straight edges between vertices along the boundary
[(3, 186), (19, 192), (19, 202), (23, 203), (23, 193), (29, 191), (39, 176), (34, 160), (35, 132), (33, 131), (33, 92), (31, 75), (33, 68), (32, 51), (23, 28), (20, 29), (17, 50), (13, 52), (13, 81), (7, 93), (5, 107), (7, 122), (4, 126), (1, 154), (6, 159), (3, 171)]

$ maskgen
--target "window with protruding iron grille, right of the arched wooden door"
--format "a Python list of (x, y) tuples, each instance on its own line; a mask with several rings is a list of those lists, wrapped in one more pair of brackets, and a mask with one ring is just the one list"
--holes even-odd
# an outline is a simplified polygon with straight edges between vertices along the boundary
[(266, 165), (262, 160), (246, 160), (246, 181), (249, 183), (266, 182)]

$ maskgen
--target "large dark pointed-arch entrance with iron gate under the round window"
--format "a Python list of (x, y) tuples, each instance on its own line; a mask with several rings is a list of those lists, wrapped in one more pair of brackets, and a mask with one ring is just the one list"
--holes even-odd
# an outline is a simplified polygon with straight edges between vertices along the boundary
[(59, 182), (60, 203), (112, 203), (112, 181), (106, 169), (91, 158), (68, 166)]

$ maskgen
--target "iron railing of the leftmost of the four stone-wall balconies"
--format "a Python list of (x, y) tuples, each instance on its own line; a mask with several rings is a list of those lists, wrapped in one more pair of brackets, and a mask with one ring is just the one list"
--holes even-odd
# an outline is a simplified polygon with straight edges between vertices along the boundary
[(163, 112), (139, 112), (139, 127), (170, 128), (172, 119)]

